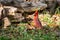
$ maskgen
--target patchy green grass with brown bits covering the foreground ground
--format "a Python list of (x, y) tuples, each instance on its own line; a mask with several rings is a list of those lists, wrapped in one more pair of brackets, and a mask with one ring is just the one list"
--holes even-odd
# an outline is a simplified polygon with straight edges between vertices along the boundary
[(50, 30), (27, 30), (25, 26), (2, 29), (0, 40), (57, 40), (57, 35)]

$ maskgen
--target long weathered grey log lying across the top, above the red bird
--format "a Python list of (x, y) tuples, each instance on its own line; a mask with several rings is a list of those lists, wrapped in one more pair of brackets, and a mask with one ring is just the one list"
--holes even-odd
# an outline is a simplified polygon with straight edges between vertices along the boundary
[(24, 12), (32, 12), (32, 11), (35, 11), (36, 9), (43, 10), (47, 7), (47, 4), (41, 3), (40, 1), (29, 2), (24, 0), (2, 0), (2, 1), (0, 0), (0, 2), (3, 5), (17, 7), (19, 10), (23, 10)]

